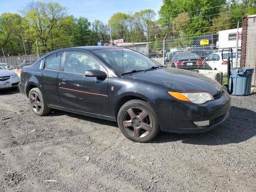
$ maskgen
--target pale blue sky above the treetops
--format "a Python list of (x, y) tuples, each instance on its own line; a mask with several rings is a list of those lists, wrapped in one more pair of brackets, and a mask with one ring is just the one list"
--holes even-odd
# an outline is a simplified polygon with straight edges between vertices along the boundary
[[(49, 2), (49, 0), (38, 0)], [(158, 13), (162, 0), (53, 0), (68, 8), (74, 17), (86, 17), (90, 22), (96, 19), (108, 23), (108, 19), (117, 12), (138, 12), (152, 9)], [(0, 0), (0, 14), (4, 12), (18, 13), (30, 0)]]

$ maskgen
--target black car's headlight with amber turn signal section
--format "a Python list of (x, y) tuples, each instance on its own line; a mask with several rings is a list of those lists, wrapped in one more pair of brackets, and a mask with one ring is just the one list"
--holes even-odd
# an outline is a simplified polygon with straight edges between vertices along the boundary
[(182, 101), (190, 101), (195, 104), (203, 104), (207, 101), (214, 100), (213, 96), (208, 92), (171, 92), (168, 93), (174, 98)]

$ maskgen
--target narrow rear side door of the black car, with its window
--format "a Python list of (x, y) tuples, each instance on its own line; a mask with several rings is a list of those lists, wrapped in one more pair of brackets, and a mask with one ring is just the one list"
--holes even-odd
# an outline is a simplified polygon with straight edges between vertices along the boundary
[(62, 52), (48, 56), (44, 62), (44, 70), (42, 72), (42, 84), (44, 95), (48, 104), (53, 106), (61, 106), (58, 96), (57, 78), (60, 72), (60, 61)]

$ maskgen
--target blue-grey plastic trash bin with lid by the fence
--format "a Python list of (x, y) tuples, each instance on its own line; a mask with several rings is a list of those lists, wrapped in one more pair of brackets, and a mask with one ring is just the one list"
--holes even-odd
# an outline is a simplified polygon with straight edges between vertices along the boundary
[(231, 68), (230, 93), (232, 95), (250, 95), (254, 68)]

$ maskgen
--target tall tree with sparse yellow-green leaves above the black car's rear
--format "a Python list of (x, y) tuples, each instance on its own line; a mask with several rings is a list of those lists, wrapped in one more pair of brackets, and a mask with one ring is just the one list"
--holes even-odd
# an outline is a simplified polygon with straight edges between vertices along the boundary
[(62, 22), (67, 16), (67, 9), (57, 2), (29, 2), (21, 11), (22, 16), (28, 23), (26, 36), (39, 39), (42, 44), (42, 52), (54, 50), (52, 39), (61, 32), (65, 23)]

